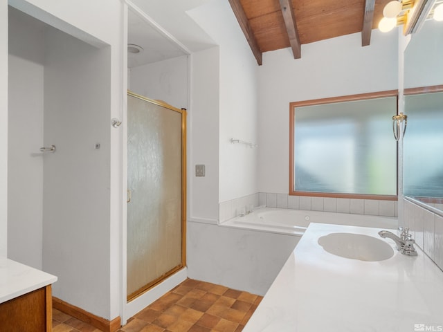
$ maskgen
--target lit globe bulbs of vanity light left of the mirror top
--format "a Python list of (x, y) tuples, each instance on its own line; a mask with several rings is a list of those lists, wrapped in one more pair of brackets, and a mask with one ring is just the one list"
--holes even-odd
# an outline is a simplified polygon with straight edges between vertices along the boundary
[(388, 33), (401, 24), (406, 24), (408, 13), (414, 6), (413, 0), (390, 1), (383, 8), (383, 19), (379, 23), (379, 30)]

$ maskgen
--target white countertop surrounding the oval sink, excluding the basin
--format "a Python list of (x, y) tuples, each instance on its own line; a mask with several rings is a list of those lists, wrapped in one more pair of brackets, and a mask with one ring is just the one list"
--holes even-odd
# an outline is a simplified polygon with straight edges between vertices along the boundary
[(347, 259), (317, 243), (332, 232), (381, 239), (377, 228), (311, 223), (244, 332), (443, 331), (443, 272), (419, 248), (417, 257), (395, 249), (384, 261)]

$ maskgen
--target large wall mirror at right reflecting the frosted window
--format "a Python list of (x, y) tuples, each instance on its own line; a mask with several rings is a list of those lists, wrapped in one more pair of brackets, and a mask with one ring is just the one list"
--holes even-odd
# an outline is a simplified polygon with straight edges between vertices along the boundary
[(405, 51), (404, 196), (443, 214), (443, 21), (428, 19)]

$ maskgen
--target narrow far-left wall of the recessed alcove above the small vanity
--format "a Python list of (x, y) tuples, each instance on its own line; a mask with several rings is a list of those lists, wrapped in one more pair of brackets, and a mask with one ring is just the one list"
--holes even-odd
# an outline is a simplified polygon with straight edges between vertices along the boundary
[(44, 32), (16, 12), (9, 16), (8, 257), (42, 269)]

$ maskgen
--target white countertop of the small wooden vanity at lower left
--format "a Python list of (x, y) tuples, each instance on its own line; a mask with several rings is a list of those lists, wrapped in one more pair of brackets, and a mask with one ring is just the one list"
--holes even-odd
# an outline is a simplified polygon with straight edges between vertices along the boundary
[(49, 273), (0, 257), (0, 303), (56, 281), (57, 277)]

